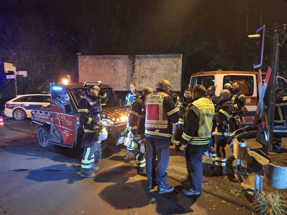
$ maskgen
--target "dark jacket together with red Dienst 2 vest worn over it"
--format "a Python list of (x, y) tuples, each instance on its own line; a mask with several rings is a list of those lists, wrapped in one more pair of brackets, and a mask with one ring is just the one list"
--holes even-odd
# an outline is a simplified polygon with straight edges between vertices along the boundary
[(172, 123), (179, 120), (178, 109), (173, 98), (163, 89), (157, 89), (145, 98), (146, 136), (170, 138)]

